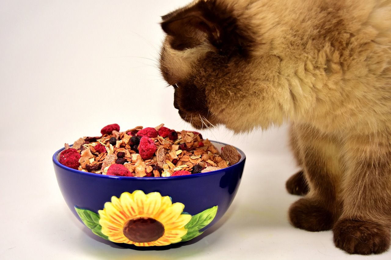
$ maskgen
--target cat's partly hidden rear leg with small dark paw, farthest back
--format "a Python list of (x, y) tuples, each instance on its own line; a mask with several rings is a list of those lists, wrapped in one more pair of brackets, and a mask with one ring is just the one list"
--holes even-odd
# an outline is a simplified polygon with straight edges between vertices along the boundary
[[(293, 124), (291, 125), (289, 132), (291, 135), (290, 144), (291, 144), (291, 148), (292, 148), (294, 157), (296, 158), (297, 164), (300, 167), (303, 167), (303, 160), (300, 155), (300, 147), (298, 144), (298, 137), (297, 137), (297, 133), (295, 131)], [(307, 184), (307, 180), (305, 180), (303, 170), (298, 171), (297, 173), (292, 175), (285, 183), (285, 187), (287, 188), (287, 191), (290, 194), (294, 194), (294, 195), (307, 194), (308, 193), (308, 184)]]

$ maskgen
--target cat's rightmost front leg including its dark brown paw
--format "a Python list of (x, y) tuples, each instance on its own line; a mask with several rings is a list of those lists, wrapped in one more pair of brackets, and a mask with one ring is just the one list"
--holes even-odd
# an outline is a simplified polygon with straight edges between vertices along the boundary
[(390, 246), (390, 136), (350, 137), (344, 146), (343, 213), (333, 232), (335, 245), (348, 253), (377, 254)]

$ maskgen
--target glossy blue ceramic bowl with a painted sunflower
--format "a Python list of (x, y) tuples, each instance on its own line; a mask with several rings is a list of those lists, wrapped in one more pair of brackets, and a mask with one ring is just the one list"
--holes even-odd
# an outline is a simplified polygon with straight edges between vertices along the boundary
[(185, 242), (211, 227), (235, 197), (246, 160), (238, 149), (240, 161), (224, 169), (138, 178), (66, 167), (58, 161), (61, 151), (54, 153), (53, 165), (70, 210), (94, 234), (128, 248)]

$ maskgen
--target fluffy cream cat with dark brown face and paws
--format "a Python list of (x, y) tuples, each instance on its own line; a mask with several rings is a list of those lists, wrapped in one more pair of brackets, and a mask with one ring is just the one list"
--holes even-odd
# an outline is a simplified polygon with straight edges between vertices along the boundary
[(289, 221), (382, 253), (391, 230), (391, 0), (196, 0), (162, 16), (163, 78), (195, 128), (291, 123)]

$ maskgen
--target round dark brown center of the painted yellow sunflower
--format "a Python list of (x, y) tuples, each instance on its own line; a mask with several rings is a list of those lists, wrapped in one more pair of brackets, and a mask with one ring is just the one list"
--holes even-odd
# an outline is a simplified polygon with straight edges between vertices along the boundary
[(164, 234), (164, 226), (156, 219), (137, 217), (125, 223), (123, 232), (133, 242), (146, 243), (158, 240)]

